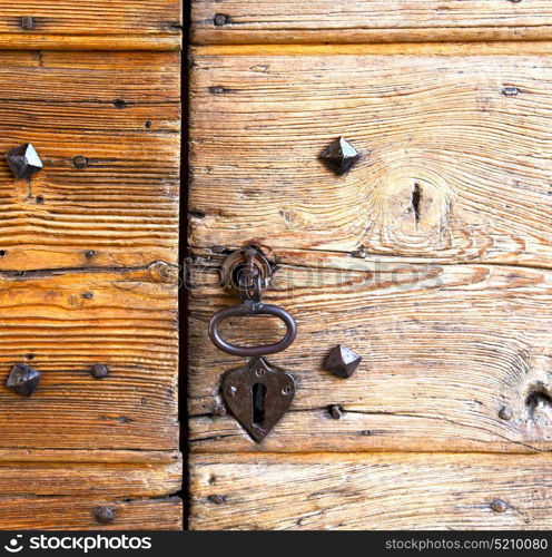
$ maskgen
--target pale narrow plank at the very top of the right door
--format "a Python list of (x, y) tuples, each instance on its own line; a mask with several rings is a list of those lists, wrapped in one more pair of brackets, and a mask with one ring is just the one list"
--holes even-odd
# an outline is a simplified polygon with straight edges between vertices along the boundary
[(552, 38), (548, 0), (195, 0), (191, 19), (197, 43)]

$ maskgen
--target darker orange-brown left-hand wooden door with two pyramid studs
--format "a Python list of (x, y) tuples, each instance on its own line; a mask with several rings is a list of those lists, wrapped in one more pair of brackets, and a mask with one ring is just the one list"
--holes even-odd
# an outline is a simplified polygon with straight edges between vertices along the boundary
[[(1, 529), (181, 527), (179, 21), (172, 0), (0, 7)], [(4, 158), (27, 143), (30, 182)]]

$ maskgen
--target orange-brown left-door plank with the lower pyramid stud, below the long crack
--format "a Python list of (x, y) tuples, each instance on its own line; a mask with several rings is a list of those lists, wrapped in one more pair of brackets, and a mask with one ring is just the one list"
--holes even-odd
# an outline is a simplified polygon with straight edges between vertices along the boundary
[(16, 362), (42, 374), (29, 399), (0, 389), (1, 448), (178, 447), (172, 266), (4, 273), (0, 307), (0, 384)]

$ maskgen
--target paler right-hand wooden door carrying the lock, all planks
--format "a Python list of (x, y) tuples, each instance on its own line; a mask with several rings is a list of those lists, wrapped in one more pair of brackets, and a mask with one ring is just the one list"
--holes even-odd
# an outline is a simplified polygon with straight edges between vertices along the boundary
[[(548, 1), (199, 0), (190, 62), (193, 529), (552, 526)], [(339, 136), (361, 154), (335, 175)], [(220, 409), (226, 253), (277, 264), (289, 411)], [(280, 334), (235, 320), (241, 343)], [(349, 379), (325, 369), (344, 344)]]

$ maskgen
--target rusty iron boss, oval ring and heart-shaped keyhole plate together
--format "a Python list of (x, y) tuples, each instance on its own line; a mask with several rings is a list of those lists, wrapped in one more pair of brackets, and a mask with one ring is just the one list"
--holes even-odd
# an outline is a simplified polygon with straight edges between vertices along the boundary
[[(219, 350), (250, 358), (241, 368), (223, 374), (220, 391), (228, 410), (260, 442), (284, 416), (295, 395), (295, 379), (263, 358), (287, 349), (297, 336), (295, 319), (283, 307), (265, 304), (263, 292), (270, 277), (270, 266), (255, 248), (238, 250), (223, 263), (223, 283), (237, 291), (241, 303), (215, 313), (209, 322), (209, 338)], [(228, 317), (273, 315), (286, 325), (286, 334), (274, 344), (239, 346), (225, 341), (219, 326)]]

